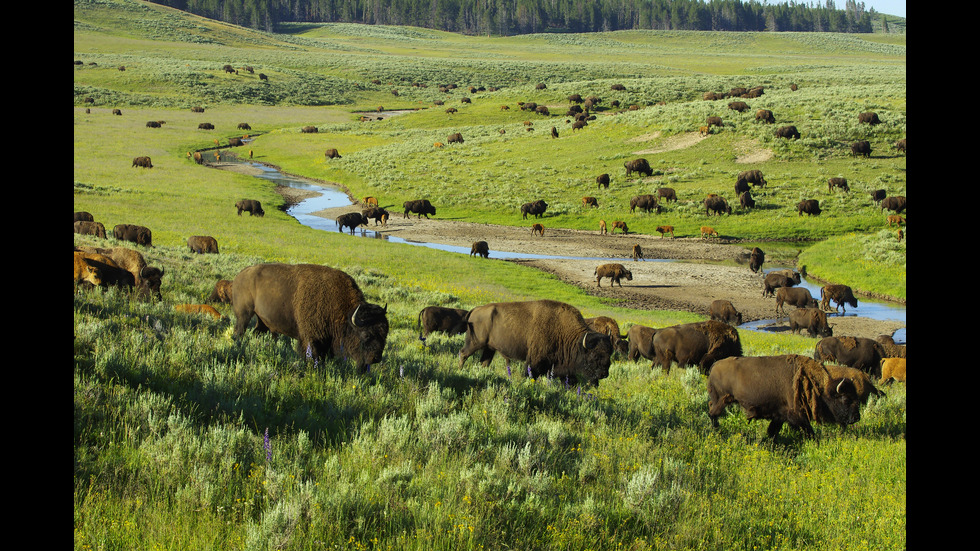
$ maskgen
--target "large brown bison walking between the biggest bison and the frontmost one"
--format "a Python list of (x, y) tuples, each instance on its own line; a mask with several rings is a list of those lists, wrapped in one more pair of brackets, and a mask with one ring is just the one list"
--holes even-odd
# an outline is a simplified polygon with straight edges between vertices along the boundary
[(489, 366), (495, 353), (527, 366), (532, 378), (598, 385), (609, 376), (612, 341), (589, 328), (574, 307), (553, 300), (498, 302), (477, 306), (466, 316), (466, 343), (459, 367), (480, 352)]

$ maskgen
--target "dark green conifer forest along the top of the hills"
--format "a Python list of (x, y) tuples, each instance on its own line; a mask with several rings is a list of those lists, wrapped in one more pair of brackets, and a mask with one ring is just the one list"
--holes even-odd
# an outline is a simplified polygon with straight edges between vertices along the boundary
[[(632, 29), (870, 33), (881, 17), (864, 2), (754, 0), (151, 0), (243, 27), (280, 22), (408, 25), (515, 35)], [(880, 25), (881, 22), (878, 21)]]

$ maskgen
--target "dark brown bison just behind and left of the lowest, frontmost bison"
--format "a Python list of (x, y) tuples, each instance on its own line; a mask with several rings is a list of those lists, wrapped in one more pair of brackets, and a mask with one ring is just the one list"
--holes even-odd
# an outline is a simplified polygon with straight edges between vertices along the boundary
[(722, 358), (742, 355), (738, 331), (717, 320), (673, 325), (657, 330), (653, 337), (655, 365), (670, 373), (675, 361), (678, 367), (696, 365), (703, 374)]

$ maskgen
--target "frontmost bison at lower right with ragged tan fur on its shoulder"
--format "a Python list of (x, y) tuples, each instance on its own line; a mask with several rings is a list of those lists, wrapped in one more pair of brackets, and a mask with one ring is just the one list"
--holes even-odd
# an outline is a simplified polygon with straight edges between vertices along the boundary
[(854, 382), (833, 377), (824, 366), (805, 356), (727, 358), (708, 376), (708, 417), (718, 418), (729, 404), (738, 404), (749, 420), (768, 419), (773, 440), (789, 423), (808, 438), (811, 423), (850, 425), (861, 419), (861, 399)]

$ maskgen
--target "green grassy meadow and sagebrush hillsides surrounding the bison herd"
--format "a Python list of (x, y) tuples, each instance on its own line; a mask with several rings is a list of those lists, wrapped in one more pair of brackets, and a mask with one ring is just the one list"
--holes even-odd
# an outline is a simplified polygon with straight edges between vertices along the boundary
[[(311, 230), (276, 208), (282, 198), (268, 183), (187, 157), (213, 155), (247, 122), (252, 141), (239, 149), (355, 197), (389, 205), (427, 197), (440, 218), (494, 224), (524, 224), (519, 206), (539, 198), (552, 227), (621, 219), (636, 232), (672, 224), (691, 236), (707, 224), (789, 251), (779, 254), (804, 249), (810, 273), (904, 299), (906, 241), (895, 242), (867, 194), (905, 195), (905, 156), (892, 147), (905, 137), (904, 37), (289, 31), (258, 33), (135, 0), (74, 2), (82, 62), (74, 210), (107, 228), (150, 227), (155, 246), (141, 251), (166, 271), (160, 302), (115, 290), (74, 295), (76, 549), (906, 547), (904, 385), (872, 399), (853, 426), (817, 426), (813, 441), (787, 428), (774, 445), (765, 423), (736, 408), (712, 430), (705, 378), (694, 369), (667, 374), (615, 357), (597, 388), (530, 380), (499, 359), (460, 369), (462, 337), (421, 342), (421, 308), (553, 298), (614, 317), (623, 332), (700, 318), (630, 310), (507, 262)], [(449, 83), (459, 88), (439, 91)], [(616, 83), (626, 91), (611, 91)], [(470, 93), (471, 85), (498, 90)], [(701, 99), (756, 85), (766, 93), (746, 100), (745, 114)], [(564, 116), (573, 93), (603, 100), (576, 131)], [(614, 99), (638, 109), (612, 108)], [(518, 108), (530, 101), (553, 116)], [(358, 120), (379, 106), (415, 112)], [(773, 126), (753, 120), (759, 108), (802, 138), (773, 138)], [(884, 124), (859, 125), (862, 111)], [(724, 126), (692, 140), (709, 115)], [(166, 122), (147, 128), (150, 120)], [(199, 130), (201, 122), (215, 130)], [(318, 132), (300, 132), (308, 125)], [(453, 132), (465, 142), (433, 146)], [(850, 155), (857, 139), (871, 142), (870, 158)], [(331, 147), (343, 158), (325, 159)], [(131, 166), (141, 155), (152, 169)], [(640, 156), (654, 175), (626, 178), (623, 162)], [(757, 208), (705, 216), (704, 195), (732, 201), (736, 174), (749, 168), (769, 182), (754, 190)], [(597, 190), (603, 172), (612, 184)], [(828, 192), (832, 176), (846, 177), (851, 193)], [(630, 197), (660, 186), (679, 201), (660, 214), (628, 212)], [(599, 208), (584, 210), (583, 195)], [(245, 197), (262, 201), (266, 215), (236, 216)], [(803, 198), (819, 199), (824, 212), (798, 216)], [(191, 235), (215, 236), (221, 254), (191, 254)], [(227, 305), (218, 305), (220, 320), (174, 310), (205, 302), (215, 281), (263, 261), (354, 276), (371, 302), (388, 305), (384, 361), (366, 375), (342, 359), (313, 365), (286, 340), (233, 339)], [(741, 338), (746, 355), (810, 355), (814, 344)]]

